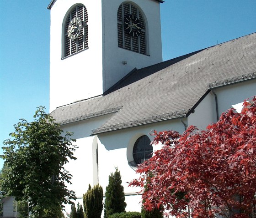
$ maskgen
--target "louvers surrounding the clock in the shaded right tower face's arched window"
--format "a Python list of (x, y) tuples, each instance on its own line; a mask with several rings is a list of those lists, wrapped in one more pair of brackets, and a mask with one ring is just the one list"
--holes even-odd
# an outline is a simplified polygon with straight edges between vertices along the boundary
[[(141, 33), (138, 37), (133, 37), (124, 30), (124, 17), (127, 15), (135, 15), (139, 19)], [(123, 3), (119, 6), (117, 11), (117, 34), (118, 47), (147, 55), (146, 26), (144, 18), (139, 9), (134, 5)]]

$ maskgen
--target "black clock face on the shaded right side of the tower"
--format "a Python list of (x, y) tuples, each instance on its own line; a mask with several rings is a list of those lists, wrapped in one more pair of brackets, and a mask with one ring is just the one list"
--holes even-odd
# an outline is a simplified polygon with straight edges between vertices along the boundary
[(127, 15), (124, 17), (124, 30), (127, 34), (138, 37), (141, 33), (141, 24), (135, 15)]

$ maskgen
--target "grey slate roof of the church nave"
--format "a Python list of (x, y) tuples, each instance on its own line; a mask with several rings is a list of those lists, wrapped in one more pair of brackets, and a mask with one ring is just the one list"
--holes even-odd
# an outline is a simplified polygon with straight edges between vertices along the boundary
[(112, 113), (92, 134), (187, 117), (214, 87), (256, 79), (256, 33), (136, 68), (102, 96), (56, 108), (61, 125)]

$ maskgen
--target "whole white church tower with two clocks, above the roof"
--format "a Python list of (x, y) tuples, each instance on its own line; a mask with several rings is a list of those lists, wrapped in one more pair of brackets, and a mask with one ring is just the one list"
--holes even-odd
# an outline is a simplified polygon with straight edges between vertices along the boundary
[(162, 0), (52, 0), (50, 112), (162, 61)]

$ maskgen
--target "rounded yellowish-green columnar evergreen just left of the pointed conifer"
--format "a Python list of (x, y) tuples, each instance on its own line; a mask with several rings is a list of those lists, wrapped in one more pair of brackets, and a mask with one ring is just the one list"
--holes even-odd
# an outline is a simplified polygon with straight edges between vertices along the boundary
[(103, 189), (100, 185), (96, 185), (83, 195), (83, 202), (85, 208), (86, 218), (101, 218), (101, 212), (103, 209)]

